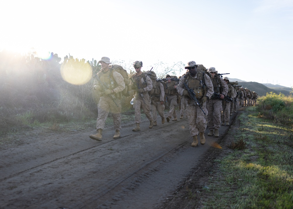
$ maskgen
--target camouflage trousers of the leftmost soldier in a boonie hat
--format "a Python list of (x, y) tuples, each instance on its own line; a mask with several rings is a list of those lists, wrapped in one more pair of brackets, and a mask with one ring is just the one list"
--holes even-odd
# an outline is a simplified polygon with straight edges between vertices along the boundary
[(98, 118), (96, 124), (97, 130), (104, 129), (109, 111), (111, 111), (113, 115), (114, 128), (116, 130), (121, 130), (121, 100), (116, 98), (115, 102), (113, 102), (113, 100), (109, 96), (100, 97), (100, 101), (98, 104)]

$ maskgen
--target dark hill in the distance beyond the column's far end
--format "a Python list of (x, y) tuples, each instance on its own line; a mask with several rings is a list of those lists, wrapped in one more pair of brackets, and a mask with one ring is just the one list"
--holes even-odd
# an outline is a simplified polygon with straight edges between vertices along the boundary
[(255, 91), (259, 96), (264, 96), (266, 93), (273, 92), (279, 94), (280, 92), (286, 96), (290, 94), (290, 91), (287, 90), (276, 90), (268, 88), (265, 85), (257, 82), (238, 82), (238, 85), (242, 85), (244, 88), (248, 88), (251, 91)]

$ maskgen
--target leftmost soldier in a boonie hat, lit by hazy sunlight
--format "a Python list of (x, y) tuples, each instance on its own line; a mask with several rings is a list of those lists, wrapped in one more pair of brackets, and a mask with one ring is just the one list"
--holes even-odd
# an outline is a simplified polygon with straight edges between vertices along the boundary
[(103, 91), (100, 95), (100, 101), (98, 104), (98, 118), (96, 129), (98, 133), (92, 134), (89, 137), (91, 139), (102, 141), (102, 131), (105, 126), (105, 121), (108, 117), (109, 111), (113, 115), (113, 124), (116, 129), (115, 135), (113, 138), (120, 137), (121, 130), (121, 91), (125, 88), (125, 83), (122, 75), (115, 70), (110, 70), (109, 64), (111, 64), (108, 57), (102, 57), (99, 61), (102, 69), (97, 73), (97, 77), (100, 79), (100, 82), (106, 86), (108, 89), (105, 89), (104, 86), (98, 80), (95, 80), (93, 88), (97, 91)]

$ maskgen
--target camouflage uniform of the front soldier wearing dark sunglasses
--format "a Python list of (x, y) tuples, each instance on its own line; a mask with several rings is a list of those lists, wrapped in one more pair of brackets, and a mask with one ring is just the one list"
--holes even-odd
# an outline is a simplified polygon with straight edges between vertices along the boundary
[[(202, 82), (199, 85), (196, 85), (197, 82), (194, 82), (194, 80), (198, 80), (198, 79), (200, 79)], [(183, 83), (186, 83), (188, 85), (188, 88), (193, 90), (200, 89), (200, 88), (202, 89), (202, 86), (203, 86), (202, 83), (205, 84), (206, 94), (202, 95), (200, 99), (198, 99), (199, 102), (201, 102), (204, 96), (207, 96), (207, 98), (210, 98), (212, 94), (214, 93), (211, 79), (206, 73), (202, 73), (202, 71), (201, 72), (197, 71), (197, 74), (194, 77), (190, 76), (190, 73), (186, 73), (185, 76), (182, 76), (180, 78), (179, 84), (177, 86), (177, 91), (180, 95), (183, 95), (183, 91), (185, 90), (185, 86), (183, 85)], [(186, 98), (186, 100), (187, 100), (187, 105), (186, 105), (185, 111), (186, 111), (186, 116), (188, 118), (188, 123), (190, 127), (190, 134), (191, 136), (197, 136), (199, 133), (204, 133), (207, 128), (205, 114), (202, 112), (200, 107), (195, 105), (195, 101), (191, 100), (190, 97)], [(206, 102), (202, 104), (202, 109), (207, 114), (207, 109), (205, 106), (206, 106)]]

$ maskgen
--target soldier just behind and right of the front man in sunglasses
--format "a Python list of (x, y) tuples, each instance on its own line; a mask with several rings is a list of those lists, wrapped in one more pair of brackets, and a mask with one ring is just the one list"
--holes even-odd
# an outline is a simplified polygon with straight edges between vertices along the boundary
[[(221, 99), (228, 93), (228, 85), (220, 76), (216, 75), (216, 68), (210, 67), (208, 72), (211, 74), (211, 80), (214, 88), (214, 93), (219, 94)], [(220, 99), (211, 98), (207, 101), (207, 126), (209, 129), (208, 136), (215, 135), (219, 137), (219, 128), (221, 125), (221, 111), (222, 111), (222, 101)]]

